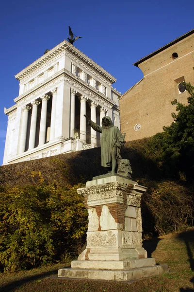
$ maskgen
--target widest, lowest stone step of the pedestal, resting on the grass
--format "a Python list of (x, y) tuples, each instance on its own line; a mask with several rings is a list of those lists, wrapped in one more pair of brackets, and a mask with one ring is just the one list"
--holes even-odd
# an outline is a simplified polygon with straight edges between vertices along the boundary
[(146, 277), (158, 276), (168, 273), (167, 265), (156, 265), (132, 270), (94, 270), (94, 269), (59, 269), (58, 277), (93, 279), (93, 280), (112, 280), (112, 281), (132, 281)]

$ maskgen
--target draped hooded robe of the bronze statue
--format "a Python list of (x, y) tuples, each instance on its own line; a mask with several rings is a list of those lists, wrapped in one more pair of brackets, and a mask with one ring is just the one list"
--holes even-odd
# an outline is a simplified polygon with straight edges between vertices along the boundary
[(120, 130), (113, 126), (110, 117), (106, 116), (110, 122), (110, 126), (98, 126), (96, 123), (89, 121), (90, 126), (97, 132), (102, 133), (101, 136), (101, 165), (111, 167), (113, 147), (116, 147), (116, 160), (118, 162), (121, 143), (124, 142), (124, 137)]

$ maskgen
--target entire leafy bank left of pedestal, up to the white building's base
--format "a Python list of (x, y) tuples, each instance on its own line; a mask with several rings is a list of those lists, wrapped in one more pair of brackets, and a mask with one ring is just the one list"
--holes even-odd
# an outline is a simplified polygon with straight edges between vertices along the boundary
[(0, 167), (0, 269), (77, 256), (88, 213), (77, 188), (103, 173), (100, 149)]

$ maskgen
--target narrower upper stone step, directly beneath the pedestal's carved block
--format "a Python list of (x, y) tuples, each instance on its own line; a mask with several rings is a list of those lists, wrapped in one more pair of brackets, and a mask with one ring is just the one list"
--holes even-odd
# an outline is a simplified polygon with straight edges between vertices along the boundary
[(155, 258), (139, 258), (131, 260), (74, 260), (71, 262), (72, 269), (95, 269), (95, 270), (131, 270), (142, 267), (155, 266)]

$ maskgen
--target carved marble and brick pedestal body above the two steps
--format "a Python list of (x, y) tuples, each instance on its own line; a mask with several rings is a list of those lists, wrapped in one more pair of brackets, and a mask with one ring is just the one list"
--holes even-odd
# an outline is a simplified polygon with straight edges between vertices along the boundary
[(78, 260), (146, 258), (141, 196), (146, 187), (121, 176), (100, 176), (78, 189), (88, 209), (86, 250)]

